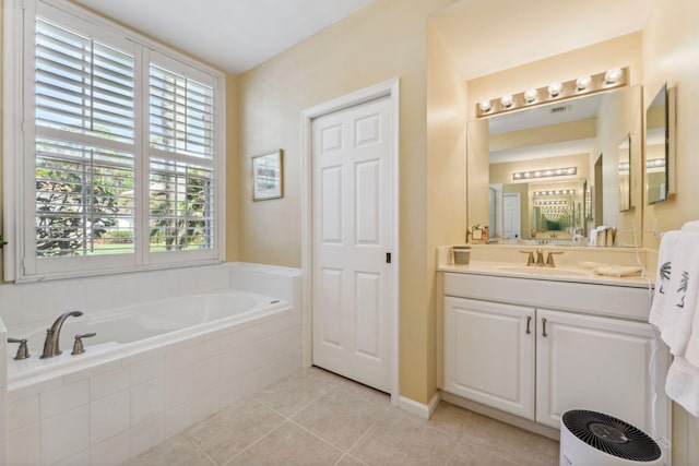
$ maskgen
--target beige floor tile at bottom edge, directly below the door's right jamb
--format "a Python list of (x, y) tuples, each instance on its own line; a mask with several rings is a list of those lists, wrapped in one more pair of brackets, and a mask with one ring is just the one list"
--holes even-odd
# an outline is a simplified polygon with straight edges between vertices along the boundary
[(455, 444), (425, 422), (387, 410), (350, 453), (376, 466), (445, 465)]

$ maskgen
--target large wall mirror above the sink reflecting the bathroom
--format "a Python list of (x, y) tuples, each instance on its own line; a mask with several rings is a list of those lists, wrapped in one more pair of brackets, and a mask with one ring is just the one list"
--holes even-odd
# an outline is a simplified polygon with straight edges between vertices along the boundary
[(489, 241), (587, 246), (593, 228), (641, 228), (641, 87), (469, 122), (469, 224)]

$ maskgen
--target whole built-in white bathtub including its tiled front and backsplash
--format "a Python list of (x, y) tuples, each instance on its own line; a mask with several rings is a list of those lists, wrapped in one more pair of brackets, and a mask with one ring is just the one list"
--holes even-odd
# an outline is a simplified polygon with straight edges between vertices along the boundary
[[(32, 354), (15, 361), (17, 345), (0, 344), (7, 464), (121, 464), (293, 373), (300, 296), (299, 270), (246, 263), (0, 286), (3, 335)], [(63, 353), (39, 359), (73, 309), (84, 314), (64, 322)]]

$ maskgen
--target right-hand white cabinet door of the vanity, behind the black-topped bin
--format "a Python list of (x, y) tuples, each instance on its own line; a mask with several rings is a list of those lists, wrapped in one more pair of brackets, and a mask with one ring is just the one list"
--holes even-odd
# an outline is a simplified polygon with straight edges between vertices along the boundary
[(562, 413), (591, 409), (651, 433), (651, 326), (541, 309), (536, 316), (536, 420), (558, 428)]

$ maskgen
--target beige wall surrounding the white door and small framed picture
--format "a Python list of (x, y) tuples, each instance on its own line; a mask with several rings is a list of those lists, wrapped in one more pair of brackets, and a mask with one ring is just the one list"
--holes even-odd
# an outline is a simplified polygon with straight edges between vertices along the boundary
[[(376, 0), (239, 76), (239, 260), (301, 265), (300, 115), (400, 77), (400, 393), (436, 392), (434, 251), (427, 250), (427, 16), (453, 0)], [(285, 151), (285, 195), (252, 202), (250, 156)], [(233, 184), (233, 183), (230, 183)], [(441, 238), (440, 238), (441, 239)]]

